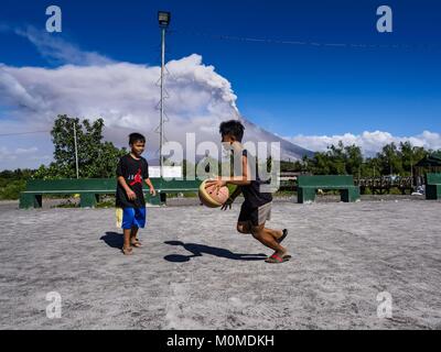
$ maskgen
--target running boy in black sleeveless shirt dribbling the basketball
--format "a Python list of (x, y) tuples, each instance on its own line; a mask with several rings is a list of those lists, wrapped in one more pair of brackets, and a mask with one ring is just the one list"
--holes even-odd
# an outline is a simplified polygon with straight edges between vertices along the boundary
[(283, 263), (291, 256), (280, 243), (287, 238), (288, 230), (271, 230), (265, 227), (267, 220), (270, 220), (272, 195), (263, 193), (260, 186), (258, 173), (251, 176), (250, 165), (256, 165), (254, 156), (241, 145), (245, 128), (240, 121), (232, 120), (220, 123), (219, 132), (222, 143), (232, 147), (232, 151), (241, 156), (241, 175), (234, 177), (219, 177), (215, 180), (208, 180), (206, 187), (215, 187), (219, 189), (226, 185), (236, 185), (236, 190), (230, 195), (228, 200), (222, 207), (223, 210), (230, 209), (232, 204), (237, 196), (244, 195), (245, 201), (241, 205), (239, 219), (237, 222), (237, 231), (240, 233), (249, 233), (275, 253), (267, 258), (267, 263)]

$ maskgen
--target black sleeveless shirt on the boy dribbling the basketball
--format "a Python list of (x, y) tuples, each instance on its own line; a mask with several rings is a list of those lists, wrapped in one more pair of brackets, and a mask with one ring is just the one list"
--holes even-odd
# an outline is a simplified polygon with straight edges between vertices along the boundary
[[(248, 177), (251, 178), (251, 184), (247, 186), (240, 186), (241, 193), (245, 198), (244, 206), (249, 208), (258, 208), (272, 201), (272, 195), (270, 193), (260, 191), (260, 186), (269, 184), (269, 180), (260, 180), (256, 158), (250, 155), (247, 150), (243, 151), (243, 155), (247, 156), (248, 165), (251, 168), (251, 175), (248, 175)], [(256, 173), (254, 173), (254, 170), (256, 170)]]

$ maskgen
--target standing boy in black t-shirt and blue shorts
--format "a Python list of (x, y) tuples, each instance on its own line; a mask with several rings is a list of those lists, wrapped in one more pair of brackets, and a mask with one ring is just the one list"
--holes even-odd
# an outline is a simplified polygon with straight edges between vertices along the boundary
[(132, 248), (142, 246), (137, 234), (139, 228), (146, 226), (146, 200), (142, 191), (143, 183), (155, 196), (155, 190), (149, 178), (149, 164), (141, 156), (146, 148), (146, 138), (139, 133), (129, 136), (131, 151), (119, 160), (117, 167), (116, 207), (118, 224), (123, 230), (122, 253), (133, 254)]

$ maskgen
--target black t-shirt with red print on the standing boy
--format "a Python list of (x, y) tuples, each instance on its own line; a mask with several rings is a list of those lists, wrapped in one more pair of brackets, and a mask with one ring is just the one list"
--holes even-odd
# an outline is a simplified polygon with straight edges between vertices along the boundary
[(137, 195), (137, 199), (130, 200), (127, 197), (126, 190), (118, 182), (117, 201), (118, 208), (143, 208), (146, 207), (142, 186), (146, 178), (149, 178), (149, 164), (141, 156), (140, 160), (133, 158), (130, 154), (122, 156), (117, 166), (117, 177), (122, 176), (127, 185)]

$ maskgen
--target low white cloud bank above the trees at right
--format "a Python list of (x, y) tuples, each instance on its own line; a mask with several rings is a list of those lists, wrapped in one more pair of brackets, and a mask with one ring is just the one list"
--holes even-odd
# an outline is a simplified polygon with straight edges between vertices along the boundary
[(305, 148), (315, 152), (326, 151), (327, 146), (337, 144), (342, 141), (344, 145), (358, 145), (365, 155), (376, 154), (381, 147), (389, 143), (396, 143), (409, 141), (415, 146), (423, 146), (428, 150), (441, 148), (441, 134), (424, 131), (421, 134), (415, 136), (395, 136), (388, 132), (365, 131), (362, 134), (345, 133), (342, 135), (297, 135), (293, 138), (287, 138), (288, 141), (299, 144)]

